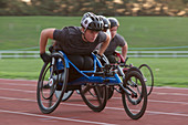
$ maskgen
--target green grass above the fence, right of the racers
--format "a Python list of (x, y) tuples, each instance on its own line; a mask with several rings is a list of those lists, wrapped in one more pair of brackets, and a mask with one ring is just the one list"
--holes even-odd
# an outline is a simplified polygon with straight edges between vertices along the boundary
[[(123, 17), (119, 33), (129, 48), (161, 48), (188, 45), (188, 18)], [(188, 49), (185, 49), (188, 50)]]

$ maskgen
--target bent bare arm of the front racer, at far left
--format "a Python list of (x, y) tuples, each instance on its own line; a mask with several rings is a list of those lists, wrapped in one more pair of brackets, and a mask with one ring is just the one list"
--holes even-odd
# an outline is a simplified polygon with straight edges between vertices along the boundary
[(53, 32), (55, 29), (44, 29), (40, 37), (40, 53), (45, 53), (45, 46), (49, 39), (53, 39)]

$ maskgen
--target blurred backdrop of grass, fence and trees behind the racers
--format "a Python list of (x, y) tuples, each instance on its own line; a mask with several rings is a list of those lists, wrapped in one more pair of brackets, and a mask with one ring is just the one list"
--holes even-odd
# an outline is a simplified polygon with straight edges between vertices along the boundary
[(188, 87), (188, 0), (0, 0), (0, 79), (38, 80), (40, 32), (88, 11), (118, 19), (127, 63), (148, 64), (156, 86)]

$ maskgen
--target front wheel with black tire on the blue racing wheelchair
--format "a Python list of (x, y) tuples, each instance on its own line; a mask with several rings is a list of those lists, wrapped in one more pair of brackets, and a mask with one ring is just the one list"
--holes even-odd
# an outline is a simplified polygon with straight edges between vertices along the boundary
[[(129, 85), (129, 81), (135, 81), (137, 86)], [(133, 119), (140, 118), (147, 107), (147, 91), (143, 76), (137, 71), (130, 71), (126, 74), (124, 86), (130, 94), (122, 93), (122, 101), (127, 115)], [(132, 91), (136, 94), (134, 94)]]

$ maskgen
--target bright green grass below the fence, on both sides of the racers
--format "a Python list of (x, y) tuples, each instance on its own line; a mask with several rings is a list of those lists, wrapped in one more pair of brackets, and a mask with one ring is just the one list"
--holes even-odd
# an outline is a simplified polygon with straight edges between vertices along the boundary
[[(155, 86), (188, 87), (187, 59), (129, 59), (135, 66), (148, 64), (155, 79)], [(0, 60), (0, 79), (38, 80), (43, 62), (40, 59)]]

